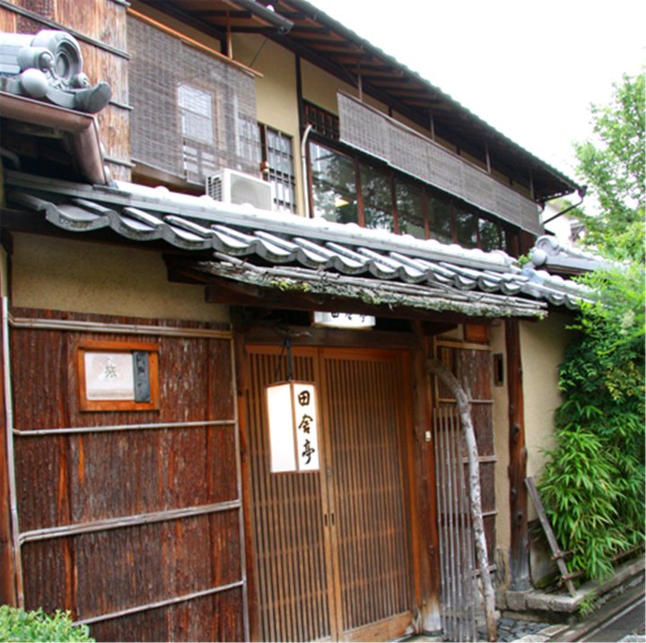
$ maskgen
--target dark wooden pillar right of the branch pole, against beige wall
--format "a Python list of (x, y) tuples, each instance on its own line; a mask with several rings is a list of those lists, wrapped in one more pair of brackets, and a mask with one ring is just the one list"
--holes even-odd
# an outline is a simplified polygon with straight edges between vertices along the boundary
[(523, 409), (522, 364), (520, 361), (520, 329), (518, 319), (505, 324), (507, 343), (507, 387), (510, 420), (510, 579), (511, 588), (528, 589), (529, 541), (527, 518), (527, 448), (525, 447), (525, 419)]

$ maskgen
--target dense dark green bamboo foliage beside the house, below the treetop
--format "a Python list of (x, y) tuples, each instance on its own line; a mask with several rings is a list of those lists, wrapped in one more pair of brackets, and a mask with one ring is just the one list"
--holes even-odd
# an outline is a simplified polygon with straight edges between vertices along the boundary
[(585, 281), (601, 299), (583, 305), (561, 366), (539, 491), (571, 570), (604, 578), (644, 538), (644, 274), (633, 265)]

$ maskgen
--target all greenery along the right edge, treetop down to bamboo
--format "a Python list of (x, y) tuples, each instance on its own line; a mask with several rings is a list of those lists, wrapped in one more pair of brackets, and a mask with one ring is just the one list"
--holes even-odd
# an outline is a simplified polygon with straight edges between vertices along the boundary
[(624, 76), (592, 106), (595, 141), (576, 146), (600, 213), (578, 214), (586, 243), (623, 263), (582, 281), (580, 335), (566, 352), (539, 491), (571, 571), (603, 578), (613, 557), (644, 541), (644, 77)]

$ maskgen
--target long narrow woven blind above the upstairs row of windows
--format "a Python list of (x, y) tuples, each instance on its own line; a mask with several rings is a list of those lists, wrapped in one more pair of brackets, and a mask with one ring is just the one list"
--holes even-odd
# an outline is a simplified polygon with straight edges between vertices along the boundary
[(359, 100), (341, 92), (336, 97), (344, 143), (524, 230), (543, 233), (530, 199)]

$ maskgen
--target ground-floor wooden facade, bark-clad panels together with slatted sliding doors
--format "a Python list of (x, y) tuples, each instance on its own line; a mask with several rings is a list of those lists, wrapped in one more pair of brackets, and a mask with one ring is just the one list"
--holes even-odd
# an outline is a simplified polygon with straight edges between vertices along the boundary
[[(294, 375), (321, 395), (321, 468), (270, 474), (263, 394), (284, 378), (279, 342), (238, 336), (233, 350), (223, 327), (32, 309), (7, 322), (19, 546), (5, 600), (69, 609), (100, 640), (387, 640), (437, 604), (419, 418), (453, 402), (416, 371), (419, 350), (351, 348), (345, 331), (336, 348), (297, 345)], [(83, 411), (78, 350), (92, 343), (154, 346), (159, 409)], [(493, 546), (487, 345), (433, 344), (483, 405)]]

